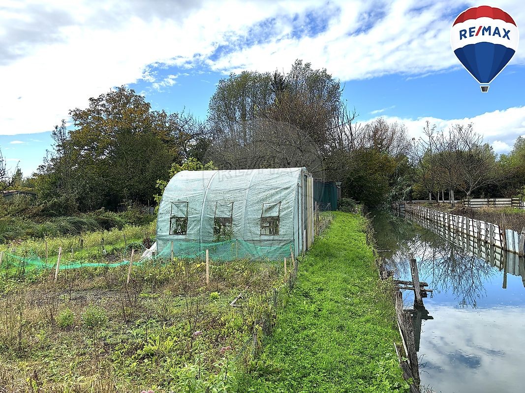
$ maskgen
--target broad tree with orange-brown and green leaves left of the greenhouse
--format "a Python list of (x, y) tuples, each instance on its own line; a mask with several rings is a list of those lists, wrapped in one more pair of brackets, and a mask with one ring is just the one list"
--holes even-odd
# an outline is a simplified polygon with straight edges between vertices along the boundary
[(53, 151), (40, 166), (41, 196), (63, 196), (82, 211), (146, 203), (172, 162), (189, 155), (204, 126), (193, 116), (152, 111), (134, 90), (121, 86), (70, 111), (74, 127), (55, 127)]

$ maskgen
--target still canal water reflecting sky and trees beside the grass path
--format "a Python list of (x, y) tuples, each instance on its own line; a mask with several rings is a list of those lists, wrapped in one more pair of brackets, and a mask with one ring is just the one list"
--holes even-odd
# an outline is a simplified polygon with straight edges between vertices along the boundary
[[(414, 314), (422, 386), (443, 393), (525, 391), (523, 258), (469, 238), (451, 242), (384, 211), (371, 216), (377, 248), (395, 275), (411, 280), (407, 257), (414, 253), (419, 280), (434, 290)], [(413, 292), (404, 291), (403, 299), (414, 308)]]

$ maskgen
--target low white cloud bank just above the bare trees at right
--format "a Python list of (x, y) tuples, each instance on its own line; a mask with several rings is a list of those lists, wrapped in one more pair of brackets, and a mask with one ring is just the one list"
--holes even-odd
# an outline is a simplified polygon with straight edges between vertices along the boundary
[[(502, 111), (486, 112), (474, 117), (460, 119), (440, 119), (436, 117), (401, 118), (383, 116), (388, 122), (403, 123), (411, 137), (418, 138), (423, 134), (423, 127), (428, 121), (436, 125), (436, 129), (448, 129), (455, 124), (472, 123), (475, 132), (484, 136), (499, 154), (507, 153), (517, 137), (525, 133), (525, 106), (517, 106)], [(373, 120), (373, 119), (371, 119)]]

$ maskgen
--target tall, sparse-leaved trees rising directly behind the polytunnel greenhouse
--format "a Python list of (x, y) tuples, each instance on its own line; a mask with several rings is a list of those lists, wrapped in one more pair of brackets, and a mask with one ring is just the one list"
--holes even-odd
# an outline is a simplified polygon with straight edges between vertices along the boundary
[(340, 84), (297, 60), (287, 74), (242, 72), (219, 82), (208, 111), (206, 159), (223, 169), (306, 166), (324, 177)]

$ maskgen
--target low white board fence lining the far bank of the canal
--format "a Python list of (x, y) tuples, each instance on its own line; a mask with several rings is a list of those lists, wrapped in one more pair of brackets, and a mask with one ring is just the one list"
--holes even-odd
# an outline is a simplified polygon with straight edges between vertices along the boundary
[(471, 237), (476, 241), (496, 246), (504, 251), (524, 255), (525, 228), (519, 234), (516, 231), (506, 230), (504, 226), (498, 224), (440, 212), (413, 203), (397, 202), (394, 203), (393, 207), (400, 215), (418, 225), (429, 228), (453, 243), (455, 238), (467, 239)]

